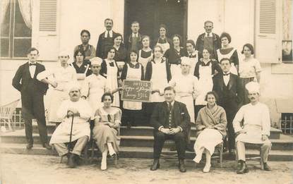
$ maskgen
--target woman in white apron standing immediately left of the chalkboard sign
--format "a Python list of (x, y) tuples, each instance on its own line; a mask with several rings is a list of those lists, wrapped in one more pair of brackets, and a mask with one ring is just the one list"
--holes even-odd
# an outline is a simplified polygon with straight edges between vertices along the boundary
[(119, 98), (119, 92), (117, 92), (120, 87), (118, 86), (118, 83), (121, 84), (119, 72), (118, 72), (118, 66), (116, 64), (116, 61), (114, 61), (115, 56), (115, 49), (109, 48), (107, 51), (107, 59), (104, 59), (102, 61), (102, 66), (100, 70), (100, 74), (103, 75), (105, 78), (107, 78), (107, 87), (109, 90), (112, 91), (114, 100), (112, 103), (112, 106), (119, 107), (120, 106), (120, 98)]

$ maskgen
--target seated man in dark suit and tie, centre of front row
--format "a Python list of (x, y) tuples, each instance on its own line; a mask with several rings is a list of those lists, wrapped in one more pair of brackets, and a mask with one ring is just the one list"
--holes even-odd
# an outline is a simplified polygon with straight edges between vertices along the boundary
[(164, 90), (165, 102), (155, 106), (150, 123), (154, 129), (154, 163), (151, 171), (160, 168), (160, 154), (165, 140), (174, 140), (179, 159), (179, 171), (186, 172), (184, 166), (187, 129), (189, 128), (190, 116), (186, 105), (175, 101), (175, 90), (166, 87)]

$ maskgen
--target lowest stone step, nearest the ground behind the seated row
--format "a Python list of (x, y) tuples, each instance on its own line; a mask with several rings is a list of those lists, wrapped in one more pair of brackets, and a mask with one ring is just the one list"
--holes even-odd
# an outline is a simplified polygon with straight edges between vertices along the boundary
[[(42, 147), (42, 145), (34, 145), (30, 150), (25, 149), (25, 144), (1, 144), (1, 153), (6, 154), (37, 154), (37, 155), (57, 155), (55, 150), (48, 150)], [(162, 158), (177, 159), (177, 152), (169, 151), (169, 149), (162, 149)], [(186, 151), (186, 159), (194, 158), (193, 152)], [(215, 153), (214, 156), (218, 154)], [(246, 158), (249, 157), (258, 157), (259, 151), (256, 149), (247, 149)], [(143, 158), (143, 159), (152, 159), (153, 158), (153, 148), (152, 147), (120, 147), (119, 157), (121, 158)], [(224, 153), (223, 154), (224, 164), (225, 160), (234, 160), (235, 157)], [(269, 154), (270, 161), (292, 161), (293, 160), (293, 151), (280, 151), (280, 150), (271, 150)]]

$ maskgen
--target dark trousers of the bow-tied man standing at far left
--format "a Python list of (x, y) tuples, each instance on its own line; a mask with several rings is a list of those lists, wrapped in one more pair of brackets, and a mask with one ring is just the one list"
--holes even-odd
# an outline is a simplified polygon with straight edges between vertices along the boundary
[[(33, 90), (33, 89), (32, 89)], [(25, 121), (25, 137), (28, 143), (33, 144), (32, 139), (32, 118), (37, 119), (37, 128), (39, 129), (42, 144), (47, 143), (46, 118), (44, 116), (44, 95), (40, 92), (22, 92), (22, 111)]]

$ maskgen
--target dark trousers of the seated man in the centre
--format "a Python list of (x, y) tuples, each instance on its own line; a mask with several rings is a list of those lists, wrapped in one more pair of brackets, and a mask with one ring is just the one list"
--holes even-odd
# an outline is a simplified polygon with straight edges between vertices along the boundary
[(155, 130), (154, 137), (154, 159), (160, 159), (165, 140), (174, 140), (178, 159), (185, 159), (186, 135), (184, 135), (184, 133), (179, 132), (174, 135), (167, 135), (161, 131)]

